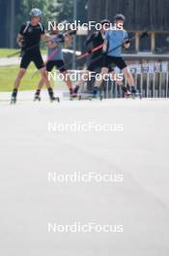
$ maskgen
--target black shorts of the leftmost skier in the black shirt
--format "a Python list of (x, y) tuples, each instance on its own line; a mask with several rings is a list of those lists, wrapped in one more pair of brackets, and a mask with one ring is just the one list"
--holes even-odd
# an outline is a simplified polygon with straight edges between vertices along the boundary
[(25, 51), (22, 55), (20, 68), (27, 69), (31, 61), (34, 62), (35, 66), (38, 70), (44, 67), (44, 63), (42, 60), (42, 54), (40, 50), (37, 51)]

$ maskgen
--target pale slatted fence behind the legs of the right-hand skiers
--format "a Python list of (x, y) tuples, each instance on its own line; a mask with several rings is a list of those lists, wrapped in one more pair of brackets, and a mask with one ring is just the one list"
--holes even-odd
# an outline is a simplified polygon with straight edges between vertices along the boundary
[[(147, 62), (143, 64), (129, 65), (128, 68), (135, 80), (135, 85), (145, 98), (169, 97), (169, 69), (168, 62)], [(115, 69), (116, 73), (120, 71)], [(110, 78), (110, 75), (107, 75)], [(92, 82), (92, 84), (94, 81)], [(123, 83), (127, 86), (127, 80)], [(91, 82), (88, 84), (91, 88)], [(128, 87), (129, 88), (129, 87)], [(110, 79), (103, 82), (102, 89), (105, 98), (122, 98), (122, 87), (116, 81)]]

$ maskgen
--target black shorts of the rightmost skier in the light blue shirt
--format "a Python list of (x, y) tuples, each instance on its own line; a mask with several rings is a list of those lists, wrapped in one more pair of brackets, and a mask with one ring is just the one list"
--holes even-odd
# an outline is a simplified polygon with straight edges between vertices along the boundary
[(117, 66), (120, 70), (127, 68), (127, 63), (125, 62), (123, 57), (106, 56), (104, 59), (103, 67), (110, 68), (112, 64)]

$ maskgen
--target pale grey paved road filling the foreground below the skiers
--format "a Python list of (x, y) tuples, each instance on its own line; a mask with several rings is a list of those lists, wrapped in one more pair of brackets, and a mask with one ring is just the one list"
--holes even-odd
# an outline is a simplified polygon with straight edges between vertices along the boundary
[[(0, 101), (1, 255), (169, 255), (169, 101), (50, 104), (44, 93), (33, 103), (32, 93), (22, 92), (24, 100), (10, 106), (8, 97)], [(95, 129), (82, 131), (91, 122)], [(97, 131), (105, 123), (119, 131)], [(49, 124), (69, 128), (51, 131)], [(48, 179), (74, 172), (123, 179)], [(77, 222), (122, 225), (123, 232), (48, 232), (48, 224)]]

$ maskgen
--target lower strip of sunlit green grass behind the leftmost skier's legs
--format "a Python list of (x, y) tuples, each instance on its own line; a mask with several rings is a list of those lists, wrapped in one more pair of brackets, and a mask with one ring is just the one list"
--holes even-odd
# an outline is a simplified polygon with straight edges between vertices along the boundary
[[(19, 67), (17, 65), (0, 67), (0, 91), (11, 91), (13, 89), (18, 68)], [(21, 80), (19, 90), (31, 90), (37, 87), (41, 76), (39, 72), (36, 73), (36, 71), (37, 69), (34, 64), (31, 64), (27, 70), (26, 75)], [(32, 78), (35, 73), (36, 75), (34, 78)], [(54, 85), (53, 81), (51, 83)], [(55, 84), (58, 89), (64, 88), (66, 86), (65, 82), (63, 81), (56, 81)]]

